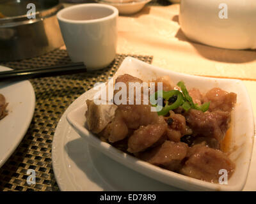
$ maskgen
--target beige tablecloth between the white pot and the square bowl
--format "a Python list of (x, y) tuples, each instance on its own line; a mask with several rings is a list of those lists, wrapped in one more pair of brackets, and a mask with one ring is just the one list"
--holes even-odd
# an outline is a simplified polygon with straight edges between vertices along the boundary
[[(227, 50), (189, 41), (179, 25), (179, 4), (146, 6), (118, 17), (118, 54), (152, 55), (152, 64), (191, 75), (236, 78), (246, 85), (256, 116), (256, 50)], [(244, 190), (256, 191), (256, 148)]]

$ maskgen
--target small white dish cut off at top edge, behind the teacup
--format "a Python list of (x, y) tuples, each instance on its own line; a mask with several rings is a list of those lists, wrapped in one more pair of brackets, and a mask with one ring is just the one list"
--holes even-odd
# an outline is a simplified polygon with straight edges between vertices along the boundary
[(120, 15), (131, 15), (140, 11), (145, 4), (149, 3), (151, 0), (140, 0), (140, 1), (132, 1), (129, 3), (116, 3), (110, 1), (100, 1), (102, 4), (109, 4), (111, 6), (115, 6), (118, 9)]

